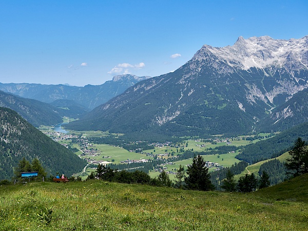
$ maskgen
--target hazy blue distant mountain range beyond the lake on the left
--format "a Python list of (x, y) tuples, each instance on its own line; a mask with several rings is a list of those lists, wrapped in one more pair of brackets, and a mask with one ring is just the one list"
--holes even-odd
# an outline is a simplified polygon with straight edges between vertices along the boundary
[(113, 76), (112, 81), (106, 81), (102, 85), (86, 85), (84, 87), (62, 84), (0, 83), (0, 90), (45, 103), (52, 103), (55, 100), (71, 100), (89, 111), (121, 94), (128, 87), (148, 78), (150, 77), (123, 74)]

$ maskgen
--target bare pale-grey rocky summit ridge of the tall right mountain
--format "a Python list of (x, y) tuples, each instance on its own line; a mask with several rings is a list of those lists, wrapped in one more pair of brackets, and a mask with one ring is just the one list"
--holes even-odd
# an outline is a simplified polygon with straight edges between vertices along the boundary
[[(269, 36), (249, 37), (246, 40), (239, 36), (233, 46), (211, 47), (204, 45), (192, 58), (192, 62), (205, 60), (212, 67), (223, 63), (233, 69), (265, 68), (268, 66), (283, 67), (288, 72), (308, 69), (308, 35), (299, 39), (275, 40)], [(218, 65), (220, 64), (220, 65)]]

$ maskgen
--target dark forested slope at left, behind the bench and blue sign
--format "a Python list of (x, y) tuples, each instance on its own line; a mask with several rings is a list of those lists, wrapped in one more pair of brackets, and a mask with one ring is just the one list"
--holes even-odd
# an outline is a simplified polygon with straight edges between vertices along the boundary
[(86, 165), (9, 108), (0, 107), (0, 142), (0, 179), (11, 179), (13, 167), (24, 157), (30, 162), (37, 158), (48, 176), (56, 172), (71, 176)]

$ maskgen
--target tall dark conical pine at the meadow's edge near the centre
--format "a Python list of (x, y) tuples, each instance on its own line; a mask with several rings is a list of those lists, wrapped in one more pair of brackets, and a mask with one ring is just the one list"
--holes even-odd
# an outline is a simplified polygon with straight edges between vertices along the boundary
[(188, 177), (185, 178), (185, 183), (188, 189), (209, 191), (215, 188), (210, 181), (206, 162), (200, 155), (192, 159), (192, 164), (188, 166), (186, 172)]

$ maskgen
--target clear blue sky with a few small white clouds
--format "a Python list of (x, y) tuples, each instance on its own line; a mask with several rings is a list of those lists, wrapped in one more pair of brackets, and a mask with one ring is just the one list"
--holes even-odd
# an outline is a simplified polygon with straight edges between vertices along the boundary
[(100, 85), (158, 76), (204, 45), (308, 35), (308, 1), (0, 0), (0, 82)]

